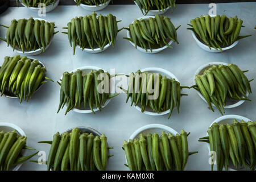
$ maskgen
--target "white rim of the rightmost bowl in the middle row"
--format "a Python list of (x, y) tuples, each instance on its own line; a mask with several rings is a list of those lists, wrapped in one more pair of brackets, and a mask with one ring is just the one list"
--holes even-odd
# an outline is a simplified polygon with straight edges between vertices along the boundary
[[(196, 81), (195, 81), (195, 77), (196, 75), (199, 75), (199, 73), (206, 67), (209, 67), (210, 65), (218, 65), (218, 64), (223, 64), (223, 65), (228, 65), (229, 63), (224, 63), (224, 62), (220, 62), (220, 61), (213, 61), (213, 62), (210, 62), (210, 63), (205, 63), (203, 65), (201, 65), (195, 72), (194, 74), (194, 78), (193, 78), (193, 84), (196, 85)], [(207, 103), (207, 101), (205, 100), (205, 98), (203, 97), (203, 95), (198, 91), (196, 90), (197, 94), (199, 94), (199, 96), (204, 100), (204, 102)], [(246, 92), (246, 96), (249, 96), (249, 92)], [(245, 102), (245, 100), (240, 100), (232, 105), (226, 105), (224, 106), (224, 109), (230, 109), (230, 108), (234, 108), (234, 107), (238, 107), (240, 105), (243, 104), (243, 102)], [(213, 107), (216, 107), (212, 102), (211, 102), (212, 106)]]

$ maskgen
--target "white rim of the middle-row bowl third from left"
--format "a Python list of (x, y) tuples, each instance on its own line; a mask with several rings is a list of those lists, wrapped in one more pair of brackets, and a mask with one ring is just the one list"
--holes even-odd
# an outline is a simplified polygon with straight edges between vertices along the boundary
[[(164, 73), (165, 75), (168, 75), (168, 77), (170, 78), (175, 78), (176, 81), (180, 82), (178, 80), (178, 78), (170, 71), (166, 70), (166, 69), (163, 69), (163, 68), (156, 68), (156, 67), (151, 67), (151, 68), (144, 68), (144, 69), (141, 69), (141, 72), (144, 72), (144, 71), (147, 71), (147, 72), (162, 72)], [(131, 101), (131, 98), (130, 98), (130, 101)], [(134, 106), (134, 105), (133, 105)], [(138, 105), (135, 106), (135, 108), (141, 112), (141, 107), (139, 107)], [(147, 110), (144, 110), (143, 112), (144, 114), (147, 114), (147, 115), (156, 115), (156, 116), (159, 116), (159, 115), (165, 115), (165, 114), (168, 114), (170, 113), (170, 110), (166, 110), (166, 111), (162, 111), (160, 113), (154, 113), (154, 112), (151, 112), (151, 111), (147, 111)]]

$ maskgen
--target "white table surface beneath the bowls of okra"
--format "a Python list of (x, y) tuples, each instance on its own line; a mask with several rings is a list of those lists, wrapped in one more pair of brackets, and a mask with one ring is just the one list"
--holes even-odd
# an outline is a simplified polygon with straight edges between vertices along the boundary
[[(237, 15), (243, 20), (241, 34), (253, 34), (250, 38), (242, 39), (233, 49), (223, 53), (209, 53), (203, 51), (193, 40), (191, 31), (186, 30), (187, 23), (192, 18), (208, 14), (208, 4), (202, 5), (177, 5), (174, 13), (168, 11), (169, 16), (175, 26), (181, 24), (177, 31), (179, 45), (174, 44), (173, 49), (165, 49), (155, 55), (148, 55), (139, 52), (131, 44), (122, 39), (126, 36), (126, 31), (119, 32), (115, 48), (109, 48), (103, 53), (90, 54), (77, 49), (73, 56), (72, 48), (69, 46), (67, 35), (56, 34), (49, 49), (41, 55), (34, 56), (43, 61), (47, 67), (47, 76), (57, 81), (64, 71), (72, 71), (84, 65), (94, 65), (104, 68), (107, 71), (115, 68), (116, 73), (130, 73), (147, 67), (160, 67), (174, 73), (180, 80), (181, 85), (191, 86), (193, 84), (193, 74), (201, 65), (211, 61), (224, 61), (226, 63), (237, 64), (242, 70), (249, 69), (246, 76), (255, 78), (256, 76), (256, 30), (253, 28), (256, 24), (256, 3), (223, 3), (217, 4), (217, 14), (226, 14), (228, 16)], [(103, 15), (112, 13), (121, 19), (118, 27), (127, 27), (134, 18), (142, 16), (141, 11), (135, 5), (111, 5), (106, 9), (99, 11)], [(57, 30), (63, 31), (62, 27), (75, 16), (84, 16), (90, 14), (76, 6), (58, 6), (57, 9), (42, 17), (51, 22), (55, 22)], [(0, 15), (1, 24), (9, 25), (13, 18), (38, 17), (37, 13), (27, 10), (25, 7), (11, 7), (5, 13)], [(0, 36), (4, 37), (6, 29), (0, 28)], [(0, 42), (0, 64), (3, 63), (5, 56), (13, 56), (15, 53), (11, 48), (7, 48), (5, 42)], [(249, 119), (256, 119), (255, 100), (256, 100), (256, 81), (251, 82), (254, 90), (249, 96), (252, 102), (246, 101), (243, 105), (226, 109), (226, 114), (243, 115)], [(114, 147), (111, 154), (113, 158), (109, 160), (109, 170), (127, 170), (123, 165), (125, 163), (125, 154), (122, 151), (124, 139), (139, 127), (151, 123), (160, 123), (167, 125), (180, 132), (181, 129), (190, 131), (188, 137), (189, 151), (199, 151), (189, 157), (188, 170), (209, 170), (209, 155), (207, 146), (204, 143), (197, 142), (200, 137), (204, 137), (210, 123), (220, 117), (216, 110), (210, 111), (207, 104), (197, 95), (195, 90), (185, 90), (189, 96), (181, 99), (181, 113), (177, 114), (175, 110), (171, 119), (168, 115), (152, 117), (142, 114), (135, 107), (125, 104), (126, 95), (121, 94), (115, 97), (110, 104), (101, 112), (94, 114), (79, 114), (73, 111), (66, 116), (64, 110), (56, 114), (59, 105), (59, 86), (56, 82), (48, 82), (40, 92), (35, 93), (32, 100), (19, 104), (18, 100), (6, 97), (0, 98), (0, 122), (11, 122), (21, 127), (28, 137), (28, 146), (36, 150), (46, 151), (48, 154), (48, 144), (38, 144), (39, 140), (52, 140), (53, 134), (57, 131), (63, 132), (75, 126), (89, 126), (104, 133), (108, 137), (109, 146)], [(31, 152), (31, 151), (30, 151)], [(38, 159), (35, 156), (33, 159)], [(36, 163), (26, 162), (20, 168), (21, 170), (45, 170), (46, 167)]]

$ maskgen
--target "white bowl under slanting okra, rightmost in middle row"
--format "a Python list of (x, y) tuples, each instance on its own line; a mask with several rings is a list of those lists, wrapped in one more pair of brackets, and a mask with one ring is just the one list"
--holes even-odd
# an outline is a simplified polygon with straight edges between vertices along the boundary
[[(195, 81), (195, 77), (196, 75), (201, 75), (201, 73), (204, 72), (204, 70), (206, 68), (209, 68), (211, 65), (218, 65), (218, 64), (223, 64), (223, 65), (228, 65), (228, 63), (223, 63), (223, 62), (210, 62), (210, 63), (207, 63), (207, 64), (204, 64), (204, 65), (201, 65), (201, 67), (199, 67), (194, 75), (194, 85), (196, 85), (196, 81)], [(198, 91), (196, 90), (197, 94), (199, 94), (199, 96), (207, 103), (207, 101), (205, 100), (205, 98), (203, 97), (203, 95)], [(246, 96), (248, 97), (249, 96), (249, 93), (246, 92)], [(241, 101), (236, 101), (236, 100), (232, 100), (232, 99), (229, 99), (226, 101), (226, 106), (224, 106), (225, 109), (229, 109), (229, 108), (234, 108), (234, 107), (238, 107), (240, 106), (241, 104), (243, 104), (243, 102), (245, 102), (245, 100), (241, 100)], [(212, 106), (214, 106), (214, 104), (212, 104)], [(215, 106), (214, 106), (215, 107)]]

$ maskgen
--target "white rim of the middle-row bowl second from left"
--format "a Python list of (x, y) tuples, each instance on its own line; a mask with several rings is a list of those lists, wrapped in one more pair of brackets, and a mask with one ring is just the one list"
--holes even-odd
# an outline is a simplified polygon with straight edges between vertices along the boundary
[[(95, 67), (95, 66), (83, 66), (83, 67), (79, 67), (79, 68), (76, 68), (76, 69), (73, 69), (72, 71), (70, 71), (69, 73), (71, 73), (71, 72), (76, 72), (77, 71), (77, 69), (80, 69), (81, 71), (83, 71), (83, 70), (86, 70), (86, 69), (93, 69), (93, 70), (98, 70), (98, 69), (102, 69), (102, 68), (99, 68), (99, 67)], [(104, 72), (106, 72), (104, 69), (102, 69)], [(62, 76), (60, 77), (60, 80), (62, 79)], [(61, 82), (61, 81), (60, 81)], [(102, 109), (106, 106), (106, 105), (108, 105), (109, 104), (109, 102), (111, 101), (111, 99), (112, 98), (108, 98), (108, 100), (106, 100), (106, 102), (105, 102), (105, 105), (104, 106), (102, 106)], [(92, 113), (92, 110), (81, 110), (81, 109), (77, 109), (77, 108), (73, 108), (72, 109), (73, 111), (75, 111), (76, 113), (83, 113), (83, 114), (88, 114), (88, 113)], [(93, 111), (94, 112), (96, 112), (96, 111), (98, 111), (98, 110), (100, 110), (99, 108), (95, 108), (95, 109), (93, 109)]]

